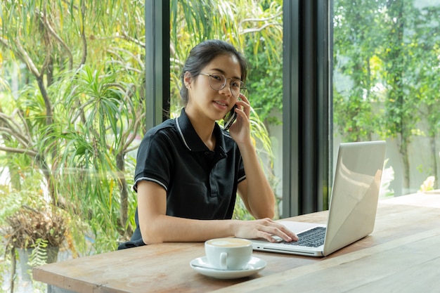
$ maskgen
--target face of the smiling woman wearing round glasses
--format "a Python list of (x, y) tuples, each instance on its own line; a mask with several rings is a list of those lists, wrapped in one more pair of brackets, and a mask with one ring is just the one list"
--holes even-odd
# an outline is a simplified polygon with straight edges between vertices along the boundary
[[(209, 85), (209, 77), (204, 74), (223, 74), (226, 77), (224, 89), (215, 91)], [(208, 63), (195, 77), (185, 74), (188, 88), (186, 112), (191, 117), (210, 119), (213, 122), (222, 119), (233, 108), (237, 98), (231, 93), (231, 78), (240, 80), (240, 63), (235, 55), (222, 54)]]

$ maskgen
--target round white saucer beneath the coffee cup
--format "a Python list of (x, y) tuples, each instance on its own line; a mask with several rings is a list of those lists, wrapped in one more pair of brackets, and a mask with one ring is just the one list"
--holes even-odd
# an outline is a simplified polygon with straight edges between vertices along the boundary
[(208, 263), (207, 257), (202, 256), (197, 259), (190, 261), (190, 267), (194, 271), (201, 273), (202, 275), (207, 275), (208, 277), (213, 277), (217, 279), (236, 279), (244, 278), (250, 275), (254, 275), (266, 268), (266, 261), (259, 259), (258, 257), (252, 256), (249, 263), (239, 271), (222, 271), (212, 266)]

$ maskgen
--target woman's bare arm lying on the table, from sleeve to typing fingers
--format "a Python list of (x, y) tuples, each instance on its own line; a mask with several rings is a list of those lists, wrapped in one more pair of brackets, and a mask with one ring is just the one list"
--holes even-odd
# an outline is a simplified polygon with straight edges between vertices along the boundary
[(285, 241), (295, 240), (295, 234), (271, 219), (256, 221), (193, 220), (167, 216), (167, 194), (157, 183), (138, 183), (138, 217), (145, 244), (157, 242), (202, 242), (216, 237), (265, 238), (271, 235)]

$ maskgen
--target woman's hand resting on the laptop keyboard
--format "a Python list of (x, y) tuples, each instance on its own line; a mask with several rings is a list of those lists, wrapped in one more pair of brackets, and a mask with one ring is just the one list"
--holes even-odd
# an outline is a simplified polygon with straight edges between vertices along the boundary
[(236, 221), (234, 236), (239, 238), (255, 239), (264, 238), (269, 242), (276, 242), (276, 235), (286, 242), (298, 241), (298, 237), (291, 230), (272, 219), (259, 219), (254, 221)]

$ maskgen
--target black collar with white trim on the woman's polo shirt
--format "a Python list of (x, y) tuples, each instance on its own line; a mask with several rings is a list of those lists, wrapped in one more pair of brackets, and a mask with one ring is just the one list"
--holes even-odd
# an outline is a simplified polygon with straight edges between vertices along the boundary
[[(182, 108), (181, 115), (176, 118), (176, 127), (188, 150), (194, 152), (206, 152), (209, 150), (205, 143), (200, 139), (197, 132), (195, 132), (193, 124), (191, 124), (188, 115), (186, 115), (185, 108)], [(226, 154), (228, 149), (231, 148), (231, 146), (226, 148), (225, 136), (228, 136), (228, 134), (225, 134), (225, 132), (226, 131), (221, 130), (219, 124), (215, 124), (214, 135), (216, 136), (216, 149), (218, 148), (220, 152), (223, 152), (224, 154)], [(231, 138), (231, 136), (228, 137)]]

